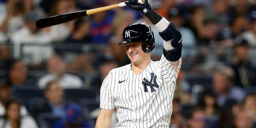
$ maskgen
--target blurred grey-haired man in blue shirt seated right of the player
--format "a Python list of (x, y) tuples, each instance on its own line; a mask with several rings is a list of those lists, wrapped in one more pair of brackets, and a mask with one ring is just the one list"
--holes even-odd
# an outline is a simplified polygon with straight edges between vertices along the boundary
[(234, 71), (228, 66), (214, 70), (212, 86), (217, 93), (217, 103), (220, 107), (224, 106), (228, 99), (241, 103), (246, 96), (245, 90), (234, 85)]

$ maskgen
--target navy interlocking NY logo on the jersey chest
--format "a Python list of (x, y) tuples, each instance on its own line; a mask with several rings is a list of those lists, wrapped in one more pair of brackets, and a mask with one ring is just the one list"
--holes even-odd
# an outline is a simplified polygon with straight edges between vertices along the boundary
[[(144, 85), (144, 92), (148, 92), (147, 86), (150, 86), (151, 92), (156, 91), (153, 87), (156, 87), (156, 88), (159, 87), (158, 84), (156, 83), (156, 78), (157, 78), (157, 76), (156, 76), (154, 73), (150, 73), (150, 74), (151, 74), (151, 79), (150, 79), (150, 81), (148, 81), (146, 78), (144, 78), (144, 79), (143, 79), (144, 81), (142, 81), (142, 84)], [(153, 80), (154, 80), (154, 81), (153, 81)], [(154, 83), (152, 83), (152, 81), (153, 81)]]

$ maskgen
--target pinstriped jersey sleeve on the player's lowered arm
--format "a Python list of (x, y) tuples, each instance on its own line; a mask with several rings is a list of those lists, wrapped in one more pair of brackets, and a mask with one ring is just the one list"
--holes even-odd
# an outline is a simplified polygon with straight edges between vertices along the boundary
[(112, 73), (109, 73), (108, 76), (103, 80), (100, 87), (100, 108), (106, 110), (114, 109), (114, 99), (110, 92), (110, 83), (112, 80)]

